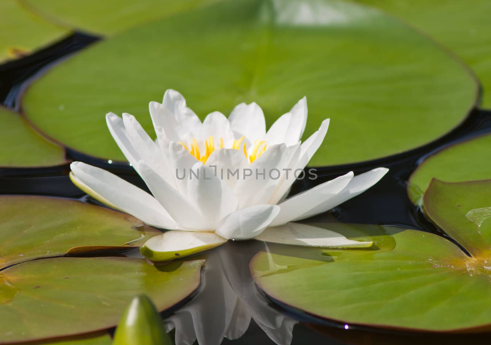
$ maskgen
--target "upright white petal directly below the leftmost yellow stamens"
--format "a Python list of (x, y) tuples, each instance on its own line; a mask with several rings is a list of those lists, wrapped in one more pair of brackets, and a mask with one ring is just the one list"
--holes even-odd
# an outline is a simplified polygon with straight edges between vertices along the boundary
[(198, 160), (191, 156), (183, 145), (170, 142), (167, 146), (169, 152), (170, 170), (175, 176), (175, 183), (179, 192), (188, 198), (189, 171)]

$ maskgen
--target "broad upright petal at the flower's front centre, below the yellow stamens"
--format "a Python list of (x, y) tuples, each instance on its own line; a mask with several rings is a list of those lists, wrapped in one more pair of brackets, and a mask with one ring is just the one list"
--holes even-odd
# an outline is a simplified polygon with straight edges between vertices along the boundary
[(192, 170), (195, 174), (188, 179), (188, 199), (215, 229), (220, 219), (237, 209), (239, 201), (225, 181), (215, 176), (213, 168), (198, 162)]

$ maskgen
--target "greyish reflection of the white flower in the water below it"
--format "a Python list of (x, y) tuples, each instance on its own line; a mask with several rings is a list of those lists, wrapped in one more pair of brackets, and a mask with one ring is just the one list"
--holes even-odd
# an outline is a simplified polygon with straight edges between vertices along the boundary
[(249, 261), (266, 244), (246, 246), (227, 243), (203, 254), (206, 258), (201, 291), (165, 320), (167, 331), (175, 329), (176, 345), (218, 345), (223, 338), (239, 339), (251, 319), (276, 344), (292, 342), (298, 321), (268, 305), (249, 272)]

